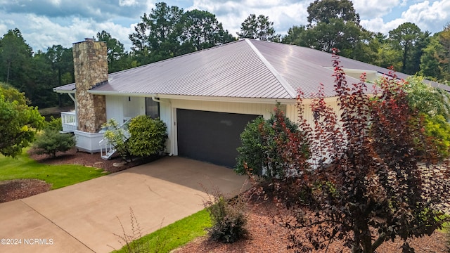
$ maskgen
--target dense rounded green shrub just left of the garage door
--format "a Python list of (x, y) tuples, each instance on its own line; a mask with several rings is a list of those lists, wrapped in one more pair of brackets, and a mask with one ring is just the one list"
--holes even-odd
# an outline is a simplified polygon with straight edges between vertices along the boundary
[(167, 126), (161, 119), (140, 115), (129, 123), (129, 148), (132, 155), (159, 155), (165, 150)]

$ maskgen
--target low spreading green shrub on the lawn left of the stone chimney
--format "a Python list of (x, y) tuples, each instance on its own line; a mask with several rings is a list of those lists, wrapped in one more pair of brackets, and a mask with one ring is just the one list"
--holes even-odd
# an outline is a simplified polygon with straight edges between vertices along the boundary
[(33, 143), (34, 153), (56, 157), (56, 153), (65, 152), (75, 146), (72, 134), (61, 134), (58, 130), (46, 129)]

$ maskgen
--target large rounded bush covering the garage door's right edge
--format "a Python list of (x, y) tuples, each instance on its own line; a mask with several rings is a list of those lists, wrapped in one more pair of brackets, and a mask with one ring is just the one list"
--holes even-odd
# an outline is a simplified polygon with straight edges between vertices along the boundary
[[(288, 168), (297, 161), (297, 155), (309, 155), (308, 143), (301, 143), (302, 133), (297, 124), (285, 117), (279, 103), (270, 119), (258, 117), (245, 126), (240, 139), (242, 145), (238, 148), (235, 169), (238, 174), (245, 174), (250, 169), (251, 174), (266, 179), (283, 179), (290, 176)], [(291, 141), (297, 141), (295, 150)]]

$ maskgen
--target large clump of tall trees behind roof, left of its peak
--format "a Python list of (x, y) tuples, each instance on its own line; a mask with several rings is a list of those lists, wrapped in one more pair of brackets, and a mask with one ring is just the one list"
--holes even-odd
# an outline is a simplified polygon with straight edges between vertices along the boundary
[(133, 53), (141, 64), (234, 41), (215, 15), (207, 11), (185, 13), (178, 6), (160, 2), (150, 14), (144, 13), (141, 20), (129, 35)]

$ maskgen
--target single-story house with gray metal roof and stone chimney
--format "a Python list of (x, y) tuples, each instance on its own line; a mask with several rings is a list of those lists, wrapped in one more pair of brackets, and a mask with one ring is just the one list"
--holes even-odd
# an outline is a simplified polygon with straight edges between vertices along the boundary
[[(53, 90), (75, 101), (75, 112), (61, 115), (64, 131), (73, 131), (77, 147), (89, 152), (100, 150), (101, 125), (108, 119), (150, 115), (167, 124), (167, 153), (233, 167), (245, 125), (259, 115), (268, 118), (276, 102), (296, 121), (297, 90), (309, 103), (323, 83), (336, 105), (331, 54), (301, 46), (241, 39), (109, 75), (104, 42), (75, 43), (73, 54), (75, 84)], [(363, 72), (369, 81), (390, 72), (340, 61), (348, 82), (359, 82)], [(310, 112), (305, 117), (312, 120)]]

